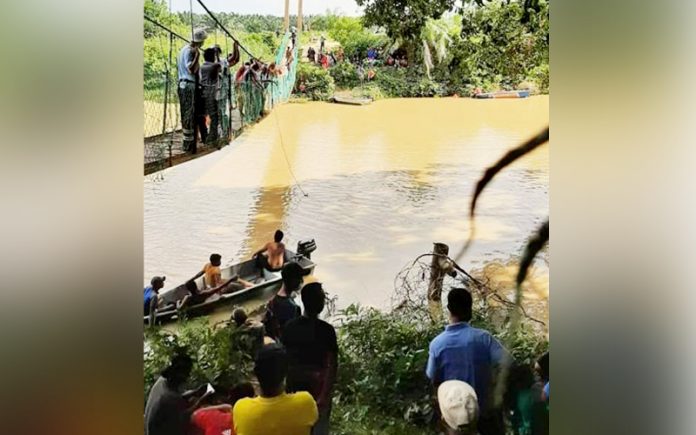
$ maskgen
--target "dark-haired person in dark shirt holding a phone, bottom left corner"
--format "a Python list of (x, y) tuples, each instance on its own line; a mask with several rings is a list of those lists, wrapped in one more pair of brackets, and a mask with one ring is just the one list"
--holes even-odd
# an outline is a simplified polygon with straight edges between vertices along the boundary
[[(145, 435), (185, 435), (188, 432), (191, 415), (205, 398), (207, 387), (203, 385), (181, 392), (192, 367), (191, 357), (178, 352), (155, 381), (145, 405)], [(195, 396), (200, 397), (190, 405), (188, 399)]]

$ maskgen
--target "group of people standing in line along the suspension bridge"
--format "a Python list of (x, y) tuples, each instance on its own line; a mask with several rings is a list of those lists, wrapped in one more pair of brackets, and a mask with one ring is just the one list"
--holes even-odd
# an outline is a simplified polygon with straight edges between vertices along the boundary
[[(288, 74), (297, 42), (293, 29), (280, 65), (251, 58), (232, 74), (232, 67), (241, 59), (239, 43), (235, 41), (232, 52), (223, 56), (218, 44), (203, 49), (206, 38), (204, 29), (194, 30), (191, 42), (181, 49), (177, 57), (183, 148), (194, 154), (198, 142), (215, 145), (219, 139), (229, 137), (229, 108), (243, 107), (241, 92), (237, 93), (237, 100), (233, 99), (233, 87), (251, 83), (265, 89), (274, 79)], [(263, 92), (260, 96), (265, 98)], [(264, 106), (265, 101), (262, 101), (261, 110)]]

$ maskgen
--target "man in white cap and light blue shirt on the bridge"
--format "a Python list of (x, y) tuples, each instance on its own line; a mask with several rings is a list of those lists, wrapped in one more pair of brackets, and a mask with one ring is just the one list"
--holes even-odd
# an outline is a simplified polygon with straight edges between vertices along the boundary
[(196, 152), (196, 87), (198, 86), (199, 59), (198, 49), (208, 35), (204, 29), (193, 31), (193, 39), (184, 46), (177, 58), (179, 74), (179, 107), (181, 109), (181, 128), (184, 132), (184, 151)]

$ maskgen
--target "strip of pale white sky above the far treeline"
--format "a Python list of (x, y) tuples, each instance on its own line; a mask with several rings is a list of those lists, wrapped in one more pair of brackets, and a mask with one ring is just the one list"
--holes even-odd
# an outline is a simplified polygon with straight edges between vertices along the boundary
[[(169, 4), (170, 0), (165, 0)], [(197, 0), (193, 2), (194, 13), (205, 13)], [(235, 12), (238, 14), (262, 14), (283, 16), (285, 0), (203, 0), (211, 12)], [(171, 0), (172, 11), (188, 11), (189, 0)], [(302, 14), (324, 14), (331, 10), (340, 15), (357, 16), (360, 9), (355, 0), (303, 0)], [(297, 0), (290, 0), (290, 14), (297, 13)]]

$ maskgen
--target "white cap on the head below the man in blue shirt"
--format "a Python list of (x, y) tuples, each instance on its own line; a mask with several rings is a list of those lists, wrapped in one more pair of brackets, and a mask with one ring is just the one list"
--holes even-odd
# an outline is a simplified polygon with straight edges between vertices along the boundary
[(475, 435), (478, 421), (476, 391), (463, 381), (445, 381), (437, 389), (442, 423), (447, 435)]

